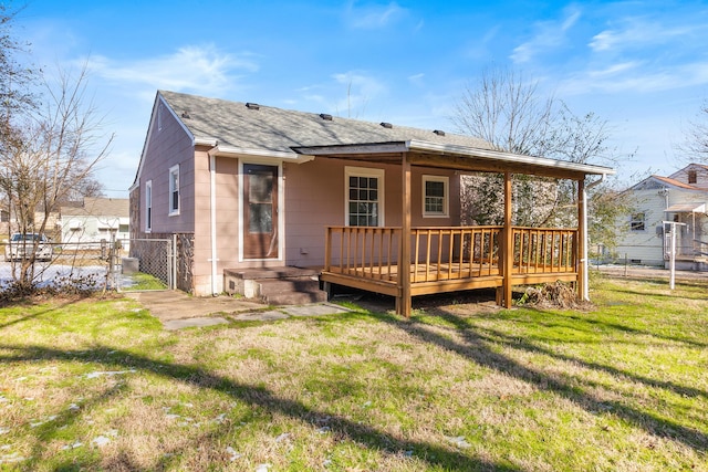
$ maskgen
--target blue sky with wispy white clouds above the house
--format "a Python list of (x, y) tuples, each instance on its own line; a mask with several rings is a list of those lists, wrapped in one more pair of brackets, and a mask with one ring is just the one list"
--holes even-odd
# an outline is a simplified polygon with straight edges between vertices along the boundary
[(706, 2), (29, 0), (14, 34), (50, 73), (88, 64), (116, 135), (110, 197), (127, 197), (159, 88), (454, 132), (466, 85), (508, 66), (608, 120), (636, 150), (626, 181), (684, 166), (708, 98)]

